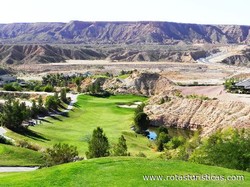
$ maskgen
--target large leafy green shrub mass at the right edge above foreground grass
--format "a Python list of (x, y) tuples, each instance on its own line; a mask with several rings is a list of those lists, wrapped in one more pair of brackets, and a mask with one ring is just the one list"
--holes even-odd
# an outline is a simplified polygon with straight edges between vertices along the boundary
[(190, 156), (190, 161), (226, 167), (230, 169), (250, 169), (250, 131), (244, 129), (218, 130), (207, 140), (203, 140)]

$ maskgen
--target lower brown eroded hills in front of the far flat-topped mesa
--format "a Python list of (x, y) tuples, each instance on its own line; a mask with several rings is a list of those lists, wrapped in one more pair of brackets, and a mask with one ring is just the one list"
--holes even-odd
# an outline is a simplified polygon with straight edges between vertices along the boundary
[(207, 51), (200, 48), (141, 46), (82, 46), (82, 45), (48, 45), (15, 44), (0, 45), (0, 63), (8, 65), (27, 63), (53, 63), (66, 60), (109, 60), (109, 61), (172, 61), (194, 62), (208, 56), (215, 49)]

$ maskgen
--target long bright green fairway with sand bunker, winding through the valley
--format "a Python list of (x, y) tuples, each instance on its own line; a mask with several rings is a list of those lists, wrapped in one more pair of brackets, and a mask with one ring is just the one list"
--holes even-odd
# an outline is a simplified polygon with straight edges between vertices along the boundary
[(133, 95), (117, 95), (109, 98), (80, 95), (76, 107), (69, 113), (69, 117), (47, 118), (48, 122), (30, 127), (40, 138), (26, 137), (10, 131), (7, 135), (14, 139), (25, 139), (42, 147), (49, 147), (58, 142), (68, 143), (77, 146), (80, 155), (84, 156), (88, 150), (87, 139), (93, 130), (100, 126), (111, 145), (116, 143), (123, 134), (132, 155), (141, 151), (149, 157), (157, 156), (149, 147), (151, 141), (144, 136), (136, 135), (130, 129), (134, 109), (117, 107), (117, 103), (145, 101), (146, 99)]

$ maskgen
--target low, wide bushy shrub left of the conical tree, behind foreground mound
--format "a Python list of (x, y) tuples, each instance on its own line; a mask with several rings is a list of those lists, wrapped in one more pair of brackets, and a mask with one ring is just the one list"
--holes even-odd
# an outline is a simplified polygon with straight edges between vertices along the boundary
[(46, 166), (73, 162), (78, 158), (77, 147), (68, 144), (55, 144), (53, 148), (48, 148), (44, 153)]

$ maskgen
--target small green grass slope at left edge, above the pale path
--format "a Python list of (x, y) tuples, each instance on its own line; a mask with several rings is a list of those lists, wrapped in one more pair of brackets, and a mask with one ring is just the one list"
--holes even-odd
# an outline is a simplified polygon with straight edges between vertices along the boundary
[(0, 166), (33, 166), (42, 163), (39, 152), (0, 144)]

